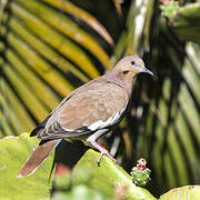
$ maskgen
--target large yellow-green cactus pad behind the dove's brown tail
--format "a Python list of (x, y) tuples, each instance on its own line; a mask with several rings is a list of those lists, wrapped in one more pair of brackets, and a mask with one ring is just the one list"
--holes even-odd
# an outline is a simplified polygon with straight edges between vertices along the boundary
[(38, 140), (30, 138), (28, 133), (0, 140), (0, 199), (37, 200), (50, 197), (49, 176), (53, 154), (30, 177), (17, 178), (20, 168), (37, 146)]

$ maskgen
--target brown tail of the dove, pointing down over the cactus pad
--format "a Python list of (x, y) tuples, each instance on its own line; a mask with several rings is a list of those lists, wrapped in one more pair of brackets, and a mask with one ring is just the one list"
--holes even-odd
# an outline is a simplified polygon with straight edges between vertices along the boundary
[(61, 139), (40, 143), (21, 168), (20, 172), (18, 173), (18, 178), (28, 177), (33, 173), (46, 160), (46, 158), (53, 151), (53, 149), (60, 143), (60, 141)]

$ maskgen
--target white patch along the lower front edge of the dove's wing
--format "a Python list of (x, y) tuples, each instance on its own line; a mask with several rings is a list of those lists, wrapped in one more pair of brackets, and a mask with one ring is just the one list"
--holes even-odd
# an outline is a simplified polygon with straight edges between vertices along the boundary
[(102, 120), (99, 120), (99, 121), (96, 121), (94, 123), (90, 124), (88, 127), (88, 129), (90, 129), (91, 131), (94, 131), (94, 130), (98, 130), (98, 129), (102, 129), (104, 127), (109, 127), (109, 126), (112, 126), (114, 124), (114, 122), (119, 119), (120, 117), (120, 113), (119, 112), (116, 112), (111, 118), (109, 118), (107, 121), (102, 121)]

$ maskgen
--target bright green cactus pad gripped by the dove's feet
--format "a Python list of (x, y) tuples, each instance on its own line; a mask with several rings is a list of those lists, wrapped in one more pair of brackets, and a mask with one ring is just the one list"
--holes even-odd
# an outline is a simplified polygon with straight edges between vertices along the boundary
[(102, 158), (101, 164), (98, 167), (98, 156), (99, 152), (88, 150), (74, 167), (72, 174), (80, 172), (81, 169), (87, 169), (91, 173), (88, 186), (92, 186), (108, 197), (113, 196), (114, 186), (127, 184), (130, 199), (154, 199), (146, 189), (136, 187), (131, 177), (107, 156)]

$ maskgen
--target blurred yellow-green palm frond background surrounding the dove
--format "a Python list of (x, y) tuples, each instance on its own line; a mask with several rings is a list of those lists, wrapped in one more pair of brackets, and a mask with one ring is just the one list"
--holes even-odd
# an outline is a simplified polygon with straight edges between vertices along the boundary
[(157, 197), (200, 183), (200, 1), (1, 0), (0, 138), (30, 132), (74, 88), (139, 54), (138, 76), (108, 149), (130, 172), (152, 170)]

